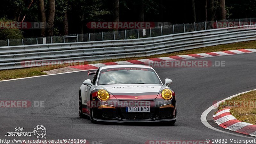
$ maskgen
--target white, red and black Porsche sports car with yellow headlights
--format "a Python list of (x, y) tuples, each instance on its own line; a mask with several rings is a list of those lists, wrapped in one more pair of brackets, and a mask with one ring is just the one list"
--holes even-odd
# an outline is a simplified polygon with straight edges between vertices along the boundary
[(156, 71), (144, 65), (101, 66), (79, 91), (79, 116), (91, 122), (176, 121), (174, 91), (163, 84)]

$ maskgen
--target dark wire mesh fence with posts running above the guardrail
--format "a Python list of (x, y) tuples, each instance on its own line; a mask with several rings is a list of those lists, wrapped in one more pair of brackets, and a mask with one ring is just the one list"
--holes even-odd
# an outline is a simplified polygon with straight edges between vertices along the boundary
[[(185, 33), (200, 30), (209, 30), (216, 28), (228, 28), (243, 25), (256, 24), (256, 18), (245, 19), (229, 19), (229, 20), (216, 20), (204, 21), (197, 23), (183, 23), (183, 24), (164, 24), (163, 22), (157, 23), (157, 27), (150, 27), (144, 29), (129, 29), (108, 31), (90, 34), (77, 34), (67, 36), (48, 36), (24, 39), (7, 39), (0, 40), (1, 46), (18, 46), (18, 45), (31, 45), (31, 44), (57, 44), (57, 43), (75, 43), (75, 42), (89, 42), (89, 41), (103, 41), (103, 40), (122, 40), (122, 39), (135, 39), (146, 38), (155, 36), (164, 36), (177, 33)], [(146, 33), (145, 33), (146, 32)]]

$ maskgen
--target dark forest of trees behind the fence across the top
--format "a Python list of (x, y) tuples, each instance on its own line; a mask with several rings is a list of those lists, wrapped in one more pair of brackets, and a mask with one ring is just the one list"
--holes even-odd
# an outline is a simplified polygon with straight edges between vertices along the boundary
[[(22, 37), (102, 31), (102, 29), (88, 29), (86, 23), (90, 21), (161, 21), (177, 24), (256, 17), (255, 0), (2, 0), (1, 2), (0, 21), (48, 24), (47, 29), (16, 31)], [(6, 38), (2, 31), (3, 29), (0, 30), (1, 39)]]

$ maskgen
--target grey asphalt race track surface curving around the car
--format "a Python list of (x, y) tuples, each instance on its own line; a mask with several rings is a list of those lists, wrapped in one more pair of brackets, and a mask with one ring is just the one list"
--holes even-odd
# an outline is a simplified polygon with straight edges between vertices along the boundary
[[(256, 53), (196, 60), (224, 60), (225, 67), (155, 68), (163, 82), (165, 78), (173, 81), (170, 87), (175, 91), (177, 100), (175, 125), (91, 124), (88, 119), (79, 118), (79, 87), (85, 79), (92, 78), (84, 71), (0, 82), (0, 100), (44, 101), (44, 107), (39, 108), (0, 108), (0, 138), (8, 138), (5, 137), (6, 132), (14, 132), (15, 127), (24, 127), (24, 132), (32, 132), (40, 124), (47, 129), (47, 139), (86, 139), (90, 143), (250, 139), (250, 136), (240, 137), (245, 135), (238, 133), (240, 136), (209, 129), (202, 124), (200, 116), (219, 100), (256, 89)], [(226, 131), (214, 123), (212, 125)], [(16, 138), (36, 139), (35, 136)]]

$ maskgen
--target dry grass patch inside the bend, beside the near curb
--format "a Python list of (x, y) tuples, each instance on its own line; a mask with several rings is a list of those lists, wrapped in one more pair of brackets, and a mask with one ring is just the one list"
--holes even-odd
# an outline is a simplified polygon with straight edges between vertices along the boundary
[(256, 91), (238, 95), (220, 103), (218, 109), (230, 108), (230, 113), (239, 121), (256, 124)]

